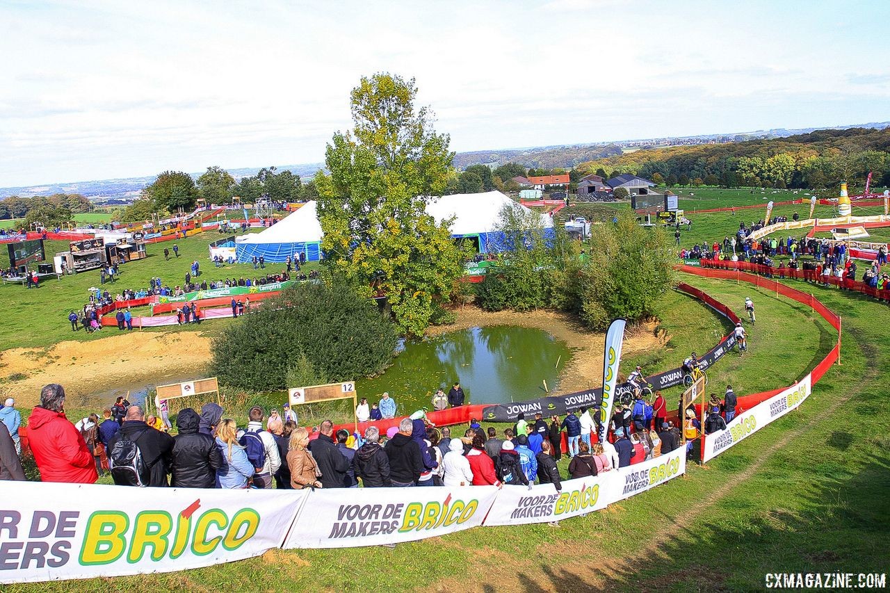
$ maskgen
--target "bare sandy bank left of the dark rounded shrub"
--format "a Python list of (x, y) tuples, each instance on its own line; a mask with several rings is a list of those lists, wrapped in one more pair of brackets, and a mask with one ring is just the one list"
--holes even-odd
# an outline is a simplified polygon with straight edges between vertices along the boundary
[(6, 379), (0, 382), (0, 394), (30, 407), (39, 400), (41, 387), (60, 383), (77, 404), (110, 387), (157, 385), (165, 377), (200, 370), (209, 360), (210, 338), (196, 332), (134, 331), (61, 342), (48, 350), (12, 348), (0, 354), (0, 378)]

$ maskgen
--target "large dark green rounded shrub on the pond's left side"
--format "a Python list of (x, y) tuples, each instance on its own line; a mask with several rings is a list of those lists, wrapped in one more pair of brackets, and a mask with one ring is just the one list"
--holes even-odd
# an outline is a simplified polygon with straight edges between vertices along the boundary
[(396, 339), (392, 321), (353, 288), (303, 283), (215, 338), (212, 365), (223, 385), (250, 390), (284, 389), (288, 377), (351, 380), (384, 370)]

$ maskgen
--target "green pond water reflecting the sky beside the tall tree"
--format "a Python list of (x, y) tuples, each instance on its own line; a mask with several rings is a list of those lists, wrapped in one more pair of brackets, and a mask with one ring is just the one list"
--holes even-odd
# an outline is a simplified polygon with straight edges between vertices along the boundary
[(421, 406), (432, 410), (436, 389), (447, 394), (455, 381), (464, 388), (466, 403), (521, 402), (546, 395), (543, 381), (555, 393), (559, 372), (570, 357), (564, 342), (540, 329), (462, 329), (409, 342), (384, 374), (360, 379), (356, 387), (370, 403), (389, 392), (398, 415)]

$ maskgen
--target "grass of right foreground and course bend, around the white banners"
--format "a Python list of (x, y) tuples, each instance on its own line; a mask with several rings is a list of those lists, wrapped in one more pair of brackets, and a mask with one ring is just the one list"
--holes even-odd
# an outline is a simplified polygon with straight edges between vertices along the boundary
[[(751, 292), (732, 282), (683, 280), (732, 304)], [(765, 573), (886, 572), (890, 441), (862, 420), (890, 413), (882, 388), (890, 362), (883, 331), (888, 313), (870, 299), (816, 291), (844, 314), (843, 366), (829, 370), (799, 410), (707, 467), (689, 467), (683, 479), (606, 511), (558, 527), (482, 528), (395, 549), (276, 551), (187, 573), (80, 581), (77, 588), (209, 591), (262, 582), (263, 589), (277, 590), (379, 590), (397, 579), (402, 589), (418, 590), (631, 591), (642, 583), (658, 590), (750, 590), (763, 588)], [(754, 298), (751, 352), (718, 362), (715, 386), (732, 379), (739, 393), (749, 393), (784, 385), (833, 344), (832, 331), (808, 308), (770, 293)], [(716, 328), (703, 307), (672, 310), (677, 320), (666, 324), (686, 319), (692, 328)], [(690, 314), (696, 319), (688, 320)], [(382, 570), (386, 565), (397, 574)]]

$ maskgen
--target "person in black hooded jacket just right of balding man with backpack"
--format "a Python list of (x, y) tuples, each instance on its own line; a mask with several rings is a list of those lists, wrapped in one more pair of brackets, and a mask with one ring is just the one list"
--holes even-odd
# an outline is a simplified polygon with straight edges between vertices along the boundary
[(179, 435), (174, 436), (170, 485), (174, 488), (213, 488), (223, 455), (216, 440), (198, 432), (201, 417), (191, 408), (176, 415)]

